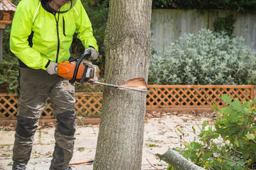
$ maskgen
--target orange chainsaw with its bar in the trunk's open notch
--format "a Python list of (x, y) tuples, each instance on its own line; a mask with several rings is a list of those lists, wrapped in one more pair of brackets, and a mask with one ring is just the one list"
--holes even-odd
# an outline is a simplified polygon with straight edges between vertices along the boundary
[(111, 86), (117, 89), (148, 92), (145, 90), (146, 81), (143, 78), (130, 79), (124, 82), (121, 86), (99, 82), (99, 67), (95, 64), (95, 60), (90, 62), (89, 60), (85, 60), (85, 57), (90, 57), (90, 54), (87, 53), (82, 55), (79, 60), (75, 57), (68, 61), (60, 62), (56, 68), (58, 76), (63, 77), (63, 79), (68, 79), (71, 84), (74, 84), (75, 81), (80, 82), (81, 84), (87, 82), (90, 84)]

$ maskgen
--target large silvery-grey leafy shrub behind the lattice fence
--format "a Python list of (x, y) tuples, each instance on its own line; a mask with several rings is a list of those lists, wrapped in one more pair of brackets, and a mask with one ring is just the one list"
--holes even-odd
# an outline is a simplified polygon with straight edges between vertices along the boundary
[(203, 29), (153, 54), (149, 84), (255, 84), (256, 53), (242, 38)]

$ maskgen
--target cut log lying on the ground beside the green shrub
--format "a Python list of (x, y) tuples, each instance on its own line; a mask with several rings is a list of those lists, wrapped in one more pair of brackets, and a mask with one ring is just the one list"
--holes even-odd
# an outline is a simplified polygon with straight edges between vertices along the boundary
[(189, 162), (186, 158), (182, 157), (171, 148), (164, 154), (156, 154), (156, 156), (173, 166), (176, 170), (205, 170), (200, 166)]

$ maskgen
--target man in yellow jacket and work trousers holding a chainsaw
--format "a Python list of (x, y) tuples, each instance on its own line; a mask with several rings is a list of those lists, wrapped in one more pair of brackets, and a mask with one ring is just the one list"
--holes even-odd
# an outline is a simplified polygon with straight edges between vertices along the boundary
[(11, 28), (10, 48), (18, 57), (19, 94), (13, 169), (26, 169), (38, 119), (50, 97), (57, 119), (50, 169), (71, 169), (75, 141), (75, 87), (57, 76), (59, 62), (70, 58), (73, 34), (98, 57), (97, 42), (80, 0), (22, 0)]

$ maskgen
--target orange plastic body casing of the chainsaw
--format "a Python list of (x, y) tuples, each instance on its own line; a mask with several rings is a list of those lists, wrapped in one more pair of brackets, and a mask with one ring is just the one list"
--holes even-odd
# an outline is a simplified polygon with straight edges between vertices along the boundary
[[(76, 62), (60, 62), (58, 64), (58, 76), (63, 77), (64, 79), (72, 79), (73, 78), (73, 74), (75, 72), (75, 65)], [(78, 68), (78, 75), (76, 77), (76, 79), (82, 79), (82, 74), (85, 70), (85, 66), (83, 66), (82, 64), (79, 66)]]

